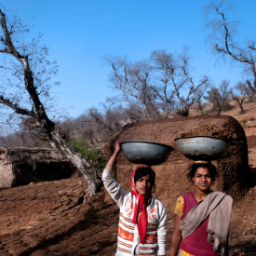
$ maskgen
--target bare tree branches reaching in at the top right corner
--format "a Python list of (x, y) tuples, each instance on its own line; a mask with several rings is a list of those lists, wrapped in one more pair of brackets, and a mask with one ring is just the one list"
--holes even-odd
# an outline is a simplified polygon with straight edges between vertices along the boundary
[(236, 21), (228, 20), (228, 15), (234, 10), (234, 5), (228, 1), (210, 1), (209, 6), (205, 7), (205, 15), (208, 18), (213, 14), (217, 19), (212, 18), (207, 24), (211, 32), (208, 41), (213, 51), (219, 56), (230, 57), (231, 60), (241, 63), (244, 71), (253, 77), (253, 85), (247, 80), (249, 88), (256, 93), (256, 47), (255, 40), (245, 40), (241, 43), (236, 40)]

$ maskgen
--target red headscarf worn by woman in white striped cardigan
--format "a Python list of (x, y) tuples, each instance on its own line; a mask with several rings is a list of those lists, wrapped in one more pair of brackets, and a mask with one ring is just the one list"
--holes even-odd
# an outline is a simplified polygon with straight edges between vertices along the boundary
[(139, 236), (140, 236), (140, 243), (143, 243), (144, 237), (146, 235), (146, 230), (147, 230), (146, 199), (150, 197), (150, 195), (152, 194), (152, 191), (150, 191), (150, 193), (148, 193), (147, 195), (140, 195), (137, 192), (135, 188), (134, 176), (138, 168), (150, 168), (150, 167), (135, 168), (130, 178), (131, 193), (132, 195), (135, 195), (135, 198), (136, 198), (132, 222), (134, 224), (136, 224), (137, 222)]

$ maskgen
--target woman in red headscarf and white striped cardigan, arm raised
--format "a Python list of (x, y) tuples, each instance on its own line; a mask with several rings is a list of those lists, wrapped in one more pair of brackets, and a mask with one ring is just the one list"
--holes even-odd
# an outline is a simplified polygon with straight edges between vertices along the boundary
[(155, 171), (138, 167), (130, 179), (131, 192), (123, 190), (112, 176), (119, 142), (102, 174), (108, 193), (120, 208), (117, 250), (115, 256), (166, 255), (167, 211), (163, 203), (152, 196)]

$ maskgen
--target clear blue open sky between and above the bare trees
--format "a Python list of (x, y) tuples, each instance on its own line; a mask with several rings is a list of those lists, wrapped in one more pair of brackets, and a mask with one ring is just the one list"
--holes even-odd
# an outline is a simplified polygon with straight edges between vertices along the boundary
[[(6, 0), (7, 13), (33, 25), (32, 34), (44, 34), (49, 59), (58, 61), (59, 108), (78, 117), (88, 108), (118, 95), (110, 88), (110, 68), (103, 55), (128, 56), (141, 61), (158, 49), (182, 52), (190, 47), (195, 81), (206, 74), (216, 85), (226, 79), (231, 86), (244, 79), (240, 66), (216, 62), (205, 44), (202, 7), (208, 0)], [(233, 1), (238, 7), (239, 38), (255, 36), (255, 0)], [(10, 11), (10, 12), (9, 12)]]

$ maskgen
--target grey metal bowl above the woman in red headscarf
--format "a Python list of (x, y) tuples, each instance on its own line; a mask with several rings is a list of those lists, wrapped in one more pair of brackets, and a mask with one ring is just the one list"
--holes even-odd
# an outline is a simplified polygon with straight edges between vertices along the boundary
[(174, 150), (171, 146), (151, 141), (122, 141), (123, 154), (134, 164), (157, 166), (164, 163)]

